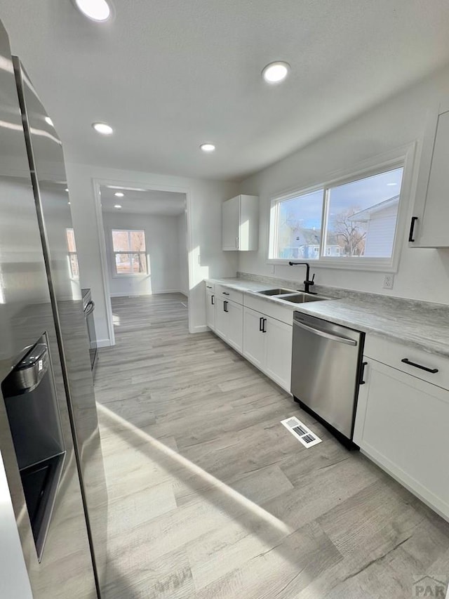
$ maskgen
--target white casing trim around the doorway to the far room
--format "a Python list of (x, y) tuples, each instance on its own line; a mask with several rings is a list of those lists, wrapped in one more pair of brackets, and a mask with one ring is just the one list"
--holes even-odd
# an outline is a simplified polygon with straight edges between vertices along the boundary
[[(114, 322), (112, 319), (112, 305), (111, 305), (111, 292), (109, 287), (109, 277), (107, 276), (107, 254), (106, 254), (106, 239), (105, 239), (105, 228), (103, 225), (103, 215), (101, 209), (101, 197), (100, 197), (100, 187), (102, 185), (117, 185), (119, 187), (135, 187), (135, 182), (129, 180), (116, 180), (116, 179), (103, 179), (103, 178), (93, 178), (93, 193), (95, 198), (95, 214), (97, 217), (97, 232), (98, 232), (98, 245), (100, 250), (100, 261), (102, 268), (102, 280), (103, 287), (105, 289), (105, 305), (106, 305), (106, 320), (107, 327), (109, 330), (109, 345), (115, 345), (115, 334), (114, 334)], [(186, 197), (186, 206), (185, 206), (185, 214), (187, 220), (187, 256), (189, 258), (189, 289), (191, 282), (194, 277), (194, 265), (193, 265), (193, 256), (192, 256), (192, 222), (190, 218), (190, 213), (192, 209), (192, 198), (190, 195), (190, 190), (186, 187), (177, 187), (176, 185), (156, 185), (153, 182), (151, 183), (139, 183), (138, 187), (145, 190), (151, 191), (166, 191), (166, 192), (176, 192), (183, 193)], [(191, 322), (192, 322), (192, 304), (189, 302), (187, 306), (188, 315), (189, 315), (189, 332), (193, 333)], [(207, 327), (206, 327), (207, 328)]]

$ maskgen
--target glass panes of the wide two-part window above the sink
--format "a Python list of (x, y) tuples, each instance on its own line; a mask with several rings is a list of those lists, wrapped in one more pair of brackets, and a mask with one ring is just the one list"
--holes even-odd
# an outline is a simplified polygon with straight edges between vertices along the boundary
[(391, 263), (403, 166), (272, 201), (272, 260)]

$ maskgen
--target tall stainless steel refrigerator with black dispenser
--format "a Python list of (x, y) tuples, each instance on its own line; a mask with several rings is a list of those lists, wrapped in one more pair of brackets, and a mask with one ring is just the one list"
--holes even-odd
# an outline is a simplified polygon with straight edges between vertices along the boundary
[(34, 599), (95, 598), (107, 492), (62, 144), (1, 23), (0, 161), (0, 452)]

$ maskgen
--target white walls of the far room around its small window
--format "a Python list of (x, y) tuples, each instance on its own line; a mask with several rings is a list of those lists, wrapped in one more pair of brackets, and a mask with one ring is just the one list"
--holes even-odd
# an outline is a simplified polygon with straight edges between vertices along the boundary
[[(178, 218), (155, 214), (128, 214), (121, 211), (103, 212), (109, 293), (112, 297), (166, 294), (181, 290)], [(147, 275), (115, 275), (112, 229), (145, 231)], [(183, 268), (187, 270), (187, 260), (183, 263)], [(183, 275), (188, 280), (188, 272)]]

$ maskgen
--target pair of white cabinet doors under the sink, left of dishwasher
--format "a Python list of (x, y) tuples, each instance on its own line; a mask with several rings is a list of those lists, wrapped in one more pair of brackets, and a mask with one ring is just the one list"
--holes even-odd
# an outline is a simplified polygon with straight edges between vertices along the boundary
[(293, 326), (243, 308), (243, 355), (290, 393)]

